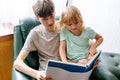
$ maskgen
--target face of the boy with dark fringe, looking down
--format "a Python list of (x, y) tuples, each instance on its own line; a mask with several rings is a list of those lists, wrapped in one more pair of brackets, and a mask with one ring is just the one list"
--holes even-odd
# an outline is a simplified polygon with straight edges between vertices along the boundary
[(37, 18), (41, 24), (44, 25), (44, 27), (49, 31), (55, 30), (55, 14), (53, 13), (50, 16), (47, 17), (38, 17)]

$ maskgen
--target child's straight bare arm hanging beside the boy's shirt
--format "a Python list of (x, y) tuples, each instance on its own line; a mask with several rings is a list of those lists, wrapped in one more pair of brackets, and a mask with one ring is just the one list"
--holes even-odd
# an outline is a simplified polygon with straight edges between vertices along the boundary
[(60, 54), (60, 58), (63, 62), (67, 62), (65, 48), (66, 48), (65, 40), (60, 41), (59, 54)]

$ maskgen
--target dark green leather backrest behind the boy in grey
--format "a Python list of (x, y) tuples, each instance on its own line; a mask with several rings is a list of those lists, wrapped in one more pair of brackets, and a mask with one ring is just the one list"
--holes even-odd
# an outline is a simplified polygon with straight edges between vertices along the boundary
[[(25, 18), (23, 20), (20, 20), (19, 25), (14, 27), (13, 61), (17, 58), (20, 50), (22, 49), (30, 30), (39, 24), (40, 22), (36, 21), (35, 18)], [(31, 53), (34, 53), (34, 54), (31, 54)], [(33, 51), (31, 53), (28, 55), (27, 59), (25, 60), (25, 63), (30, 67), (37, 69), (39, 66), (38, 55), (36, 55), (37, 51)]]

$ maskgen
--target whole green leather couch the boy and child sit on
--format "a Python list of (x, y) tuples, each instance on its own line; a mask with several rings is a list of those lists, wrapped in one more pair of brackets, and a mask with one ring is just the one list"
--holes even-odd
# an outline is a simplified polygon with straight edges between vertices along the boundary
[[(58, 19), (58, 17), (56, 18)], [(14, 27), (14, 53), (13, 53), (13, 62), (18, 56), (26, 37), (29, 31), (39, 25), (34, 18), (25, 18), (20, 20), (19, 25)], [(32, 54), (34, 53), (34, 54)], [(38, 55), (37, 51), (31, 52), (25, 63), (34, 68), (38, 69)], [(91, 80), (120, 80), (120, 54), (110, 53), (110, 52), (102, 52), (101, 62), (97, 68), (93, 71), (90, 76)], [(12, 68), (12, 80), (34, 80), (34, 78), (27, 76), (17, 70)]]

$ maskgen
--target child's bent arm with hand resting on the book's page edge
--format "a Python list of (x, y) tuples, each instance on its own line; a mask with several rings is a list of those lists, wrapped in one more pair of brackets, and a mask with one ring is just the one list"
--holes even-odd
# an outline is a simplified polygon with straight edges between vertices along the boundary
[(97, 51), (97, 47), (103, 42), (102, 36), (98, 33), (96, 33), (95, 40), (96, 41), (90, 46), (90, 49), (89, 49), (90, 55), (94, 55)]

